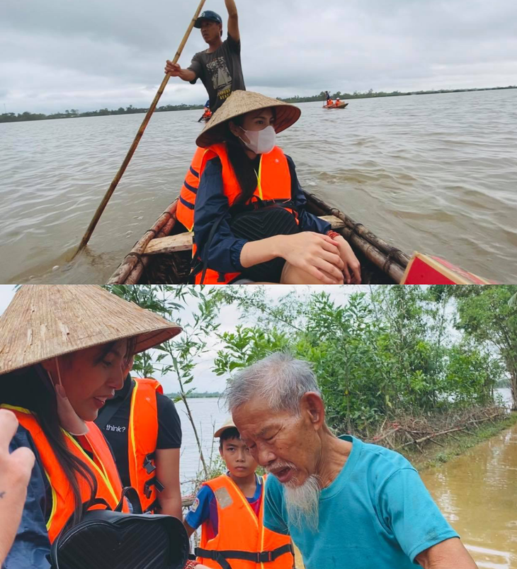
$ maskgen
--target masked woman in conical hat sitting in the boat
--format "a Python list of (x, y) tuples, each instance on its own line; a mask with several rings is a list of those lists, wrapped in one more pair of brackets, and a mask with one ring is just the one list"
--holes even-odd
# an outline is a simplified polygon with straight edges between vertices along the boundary
[(207, 151), (198, 190), (186, 204), (193, 211), (196, 283), (360, 283), (350, 245), (307, 212), (295, 164), (275, 144), (300, 113), (277, 99), (234, 91), (198, 137)]

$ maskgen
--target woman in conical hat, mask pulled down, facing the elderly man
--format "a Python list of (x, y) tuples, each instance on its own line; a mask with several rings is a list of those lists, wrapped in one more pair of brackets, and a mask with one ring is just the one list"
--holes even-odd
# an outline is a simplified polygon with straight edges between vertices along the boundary
[(51, 543), (93, 500), (116, 507), (120, 478), (93, 420), (133, 354), (179, 332), (101, 287), (18, 290), (0, 317), (0, 407), (20, 424), (10, 450), (29, 447), (36, 462), (9, 569), (48, 568)]

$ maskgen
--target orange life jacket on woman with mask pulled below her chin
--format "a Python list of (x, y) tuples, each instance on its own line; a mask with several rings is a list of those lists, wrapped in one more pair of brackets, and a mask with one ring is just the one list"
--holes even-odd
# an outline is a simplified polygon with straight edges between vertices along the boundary
[[(14, 412), (19, 424), (28, 430), (33, 438), (36, 449), (40, 454), (45, 475), (52, 488), (52, 511), (47, 521), (47, 531), (52, 543), (59, 532), (67, 524), (74, 514), (75, 503), (72, 494), (72, 485), (69, 483), (67, 475), (57, 460), (57, 456), (52, 450), (52, 446), (45, 436), (40, 423), (35, 415), (23, 407), (13, 407), (11, 405), (1, 405)], [(111, 509), (117, 507), (122, 496), (122, 483), (118, 475), (113, 455), (101, 430), (93, 422), (86, 423), (89, 433), (74, 438), (71, 434), (63, 431), (67, 449), (76, 458), (83, 461), (96, 477), (97, 493), (95, 498), (104, 500)], [(91, 453), (93, 459), (87, 453)], [(77, 476), (82, 502), (88, 502), (91, 492), (88, 483), (81, 475)], [(91, 509), (104, 509), (106, 506), (95, 505)], [(124, 512), (128, 512), (127, 505), (123, 507)]]

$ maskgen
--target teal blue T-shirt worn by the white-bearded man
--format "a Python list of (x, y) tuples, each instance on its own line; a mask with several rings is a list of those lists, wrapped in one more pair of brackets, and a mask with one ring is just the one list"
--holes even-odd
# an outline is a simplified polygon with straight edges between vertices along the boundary
[(353, 436), (352, 451), (319, 499), (319, 529), (290, 526), (283, 487), (266, 482), (264, 525), (290, 535), (306, 569), (409, 569), (425, 549), (458, 538), (401, 454)]

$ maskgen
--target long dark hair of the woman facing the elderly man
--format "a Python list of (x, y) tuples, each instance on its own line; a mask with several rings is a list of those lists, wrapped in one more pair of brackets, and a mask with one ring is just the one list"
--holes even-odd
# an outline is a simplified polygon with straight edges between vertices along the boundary
[[(102, 357), (108, 354), (114, 343), (106, 344)], [(135, 338), (128, 339), (125, 356), (127, 362), (135, 351), (135, 344)], [(65, 435), (59, 425), (55, 389), (45, 369), (40, 364), (36, 364), (0, 376), (0, 403), (13, 405), (13, 407), (23, 407), (35, 414), (47, 441), (52, 447), (52, 451), (57, 457), (57, 461), (59, 461), (59, 465), (72, 486), (74, 514), (67, 526), (78, 524), (84, 512), (89, 509), (96, 498), (97, 479), (91, 468), (80, 458), (74, 456), (67, 447)], [(89, 486), (90, 497), (86, 502), (83, 502), (81, 497), (79, 476), (84, 478)]]

